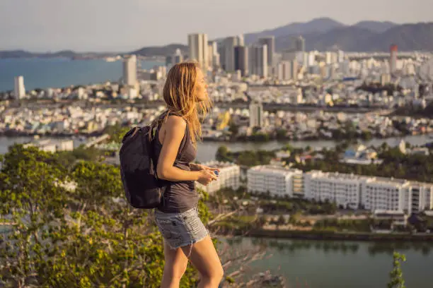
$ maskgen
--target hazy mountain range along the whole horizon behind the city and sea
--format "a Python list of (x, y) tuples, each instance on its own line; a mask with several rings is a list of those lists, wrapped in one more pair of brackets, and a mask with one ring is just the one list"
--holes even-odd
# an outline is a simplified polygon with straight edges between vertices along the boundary
[[(388, 52), (390, 44), (398, 45), (400, 51), (433, 51), (433, 22), (396, 24), (381, 21), (361, 21), (345, 25), (331, 18), (316, 18), (305, 23), (289, 23), (277, 28), (260, 32), (246, 33), (246, 44), (255, 42), (259, 37), (275, 36), (275, 48), (287, 48), (292, 37), (302, 35), (306, 40), (306, 50), (329, 51), (341, 49), (347, 52)], [(404, 37), (410, 35), (410, 37)], [(221, 41), (222, 39), (217, 39)], [(143, 47), (132, 52), (59, 52), (32, 53), (23, 50), (0, 51), (1, 58), (56, 58), (103, 59), (124, 54), (139, 56), (166, 56), (180, 49), (188, 53), (185, 44)]]

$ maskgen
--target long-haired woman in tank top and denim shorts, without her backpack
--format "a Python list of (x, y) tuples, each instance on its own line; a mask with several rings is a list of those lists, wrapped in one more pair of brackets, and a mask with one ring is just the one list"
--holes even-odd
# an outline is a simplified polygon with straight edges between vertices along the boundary
[(176, 64), (168, 71), (163, 98), (167, 112), (154, 121), (156, 173), (168, 184), (155, 220), (164, 238), (162, 288), (179, 287), (188, 260), (200, 272), (200, 288), (219, 286), (221, 261), (201, 222), (195, 181), (207, 185), (217, 179), (214, 168), (192, 164), (202, 129), (200, 115), (210, 107), (207, 84), (195, 63)]

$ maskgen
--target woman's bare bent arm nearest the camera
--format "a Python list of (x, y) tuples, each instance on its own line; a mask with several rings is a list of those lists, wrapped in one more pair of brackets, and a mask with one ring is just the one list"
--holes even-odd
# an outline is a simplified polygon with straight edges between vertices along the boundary
[[(172, 115), (163, 125), (166, 133), (156, 166), (158, 177), (168, 181), (200, 181), (203, 177), (212, 178), (214, 175), (210, 175), (204, 170), (192, 172), (173, 166), (185, 134), (186, 122), (182, 117)], [(216, 179), (216, 176), (214, 178)]]

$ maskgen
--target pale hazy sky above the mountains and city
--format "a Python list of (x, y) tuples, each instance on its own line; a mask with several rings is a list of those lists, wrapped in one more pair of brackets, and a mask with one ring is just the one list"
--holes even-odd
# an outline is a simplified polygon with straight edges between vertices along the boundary
[(123, 52), (330, 17), (433, 21), (433, 0), (0, 0), (0, 50)]

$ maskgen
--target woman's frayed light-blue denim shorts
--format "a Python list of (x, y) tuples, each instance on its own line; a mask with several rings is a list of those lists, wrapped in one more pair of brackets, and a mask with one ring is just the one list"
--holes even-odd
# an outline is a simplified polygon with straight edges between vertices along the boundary
[(181, 213), (164, 213), (155, 210), (155, 222), (164, 240), (172, 249), (192, 246), (209, 234), (200, 220), (197, 208)]

